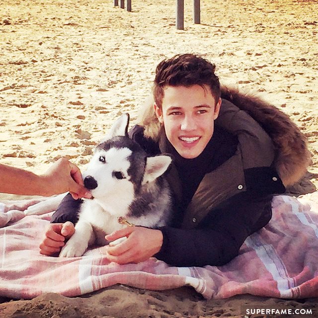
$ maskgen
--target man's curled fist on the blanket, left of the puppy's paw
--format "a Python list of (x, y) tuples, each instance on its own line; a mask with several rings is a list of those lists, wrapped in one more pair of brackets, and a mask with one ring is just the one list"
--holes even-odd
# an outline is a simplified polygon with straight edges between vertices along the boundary
[(40, 254), (50, 256), (59, 253), (66, 240), (70, 239), (74, 233), (75, 227), (72, 222), (51, 223), (40, 244)]

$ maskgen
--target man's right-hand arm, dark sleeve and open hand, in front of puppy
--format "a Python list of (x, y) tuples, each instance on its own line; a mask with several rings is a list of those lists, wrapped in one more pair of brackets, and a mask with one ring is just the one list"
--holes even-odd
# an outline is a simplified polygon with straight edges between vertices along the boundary
[(127, 240), (105, 246), (102, 251), (110, 261), (119, 264), (155, 256), (173, 266), (224, 265), (238, 255), (244, 240), (264, 227), (272, 215), (271, 196), (253, 200), (244, 196), (211, 211), (195, 229), (128, 227), (115, 231), (106, 239)]

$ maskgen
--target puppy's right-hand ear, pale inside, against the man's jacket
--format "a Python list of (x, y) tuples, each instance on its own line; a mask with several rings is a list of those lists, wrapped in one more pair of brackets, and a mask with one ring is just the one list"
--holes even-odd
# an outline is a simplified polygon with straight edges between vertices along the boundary
[(142, 184), (156, 180), (167, 170), (171, 161), (171, 157), (166, 155), (148, 157)]

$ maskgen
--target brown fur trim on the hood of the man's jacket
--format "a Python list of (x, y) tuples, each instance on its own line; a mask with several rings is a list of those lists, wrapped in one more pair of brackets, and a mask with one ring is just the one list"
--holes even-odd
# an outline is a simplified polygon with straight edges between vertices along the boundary
[[(288, 115), (259, 96), (238, 89), (222, 86), (221, 98), (248, 113), (270, 136), (275, 147), (274, 166), (285, 186), (294, 184), (306, 173), (311, 163), (307, 139)], [(162, 127), (154, 111), (153, 97), (142, 107), (138, 124), (145, 127), (146, 137), (159, 139)]]

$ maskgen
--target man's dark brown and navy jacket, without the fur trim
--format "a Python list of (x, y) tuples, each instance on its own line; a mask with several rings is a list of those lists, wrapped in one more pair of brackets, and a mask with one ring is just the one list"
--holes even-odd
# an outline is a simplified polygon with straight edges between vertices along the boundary
[[(221, 134), (216, 146), (226, 149), (230, 144), (233, 148), (232, 141), (236, 139), (234, 152), (227, 153), (221, 164), (215, 164), (218, 159), (212, 158), (203, 167), (204, 173), (186, 205), (182, 197), (182, 169), (178, 171), (178, 167), (172, 165), (166, 174), (175, 198), (175, 218), (171, 227), (160, 228), (163, 244), (155, 256), (171, 265), (227, 263), (238, 255), (240, 246), (250, 234), (269, 222), (272, 195), (285, 191), (275, 166), (280, 158), (277, 141), (269, 137), (259, 122), (223, 99), (215, 124), (216, 131), (219, 127), (233, 136), (225, 138), (223, 143)], [(162, 131), (158, 142), (146, 137), (142, 127), (135, 127), (130, 135), (151, 155), (171, 153)], [(202, 172), (201, 165), (193, 168)], [(70, 211), (69, 206), (74, 202), (70, 198), (67, 200), (66, 209)], [(72, 213), (68, 217), (63, 211), (61, 213), (66, 209), (58, 210), (52, 222), (73, 221)]]

